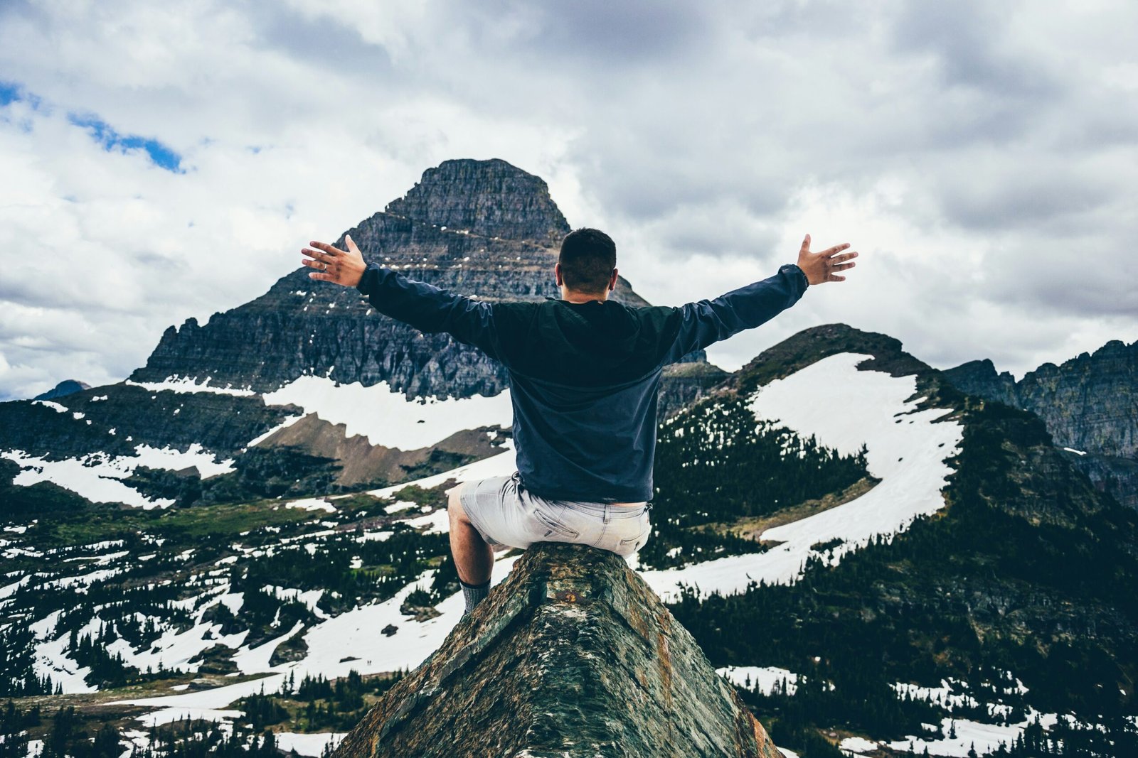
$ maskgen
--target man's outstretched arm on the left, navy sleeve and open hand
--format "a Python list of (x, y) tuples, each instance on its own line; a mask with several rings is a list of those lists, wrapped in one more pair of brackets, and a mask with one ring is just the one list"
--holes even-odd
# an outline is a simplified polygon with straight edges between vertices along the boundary
[[(379, 264), (366, 264), (360, 248), (345, 236), (347, 250), (324, 242), (312, 242), (316, 250), (300, 252), (312, 258), (302, 263), (314, 268), (308, 276), (354, 286), (368, 295), (372, 307), (385, 316), (409, 324), (420, 332), (446, 332), (454, 339), (497, 358), (497, 340), (490, 305), (407, 278)], [(327, 268), (323, 268), (327, 266)]]

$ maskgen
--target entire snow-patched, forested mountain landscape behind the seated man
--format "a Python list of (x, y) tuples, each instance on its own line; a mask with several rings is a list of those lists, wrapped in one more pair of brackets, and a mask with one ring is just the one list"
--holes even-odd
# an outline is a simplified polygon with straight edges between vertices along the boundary
[[(417, 278), (539, 299), (568, 228), (538, 177), (454, 160), (349, 233)], [(348, 731), (443, 643), (443, 492), (513, 470), (506, 376), (306, 274), (171, 326), (124, 382), (0, 403), (0, 697), (121, 708), (139, 748), (139, 706), (311, 744), (292, 732)], [(805, 758), (1129, 749), (1135, 353), (1016, 383), (826, 324), (734, 373), (688, 356), (630, 567)]]

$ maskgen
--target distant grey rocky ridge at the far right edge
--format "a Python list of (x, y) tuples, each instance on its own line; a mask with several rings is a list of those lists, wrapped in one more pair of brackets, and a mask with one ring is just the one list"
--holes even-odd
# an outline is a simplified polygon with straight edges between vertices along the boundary
[(1019, 382), (987, 359), (942, 373), (968, 394), (1034, 413), (1100, 490), (1138, 508), (1138, 342), (1112, 340)]

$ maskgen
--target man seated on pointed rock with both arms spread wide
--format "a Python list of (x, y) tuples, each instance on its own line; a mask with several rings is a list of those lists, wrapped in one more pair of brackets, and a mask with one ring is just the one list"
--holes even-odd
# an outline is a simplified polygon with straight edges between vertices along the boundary
[[(510, 377), (518, 470), (448, 493), (451, 552), (467, 610), (489, 590), (494, 550), (578, 542), (627, 556), (651, 531), (660, 372), (694, 350), (769, 320), (809, 284), (842, 282), (857, 252), (810, 252), (769, 278), (681, 308), (629, 308), (609, 300), (617, 251), (593, 228), (568, 234), (553, 276), (561, 299), (496, 302), (454, 294), (365, 264), (323, 242), (300, 252), (308, 276), (355, 286), (381, 314), (447, 332), (501, 361)], [(839, 255), (841, 253), (841, 255)]]

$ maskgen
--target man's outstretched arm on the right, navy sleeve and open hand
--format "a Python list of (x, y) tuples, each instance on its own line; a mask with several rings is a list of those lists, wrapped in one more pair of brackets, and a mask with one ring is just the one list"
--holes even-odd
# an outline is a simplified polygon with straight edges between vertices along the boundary
[(798, 253), (798, 264), (784, 264), (774, 276), (732, 290), (715, 300), (700, 300), (681, 307), (679, 333), (666, 363), (675, 363), (693, 350), (702, 350), (714, 342), (770, 320), (798, 302), (809, 284), (844, 281), (844, 276), (833, 272), (853, 266), (852, 261), (842, 261), (857, 257), (857, 252), (836, 255), (848, 247), (849, 243), (843, 243), (822, 252), (810, 252), (810, 235), (807, 234)]

